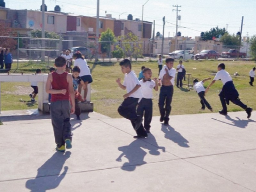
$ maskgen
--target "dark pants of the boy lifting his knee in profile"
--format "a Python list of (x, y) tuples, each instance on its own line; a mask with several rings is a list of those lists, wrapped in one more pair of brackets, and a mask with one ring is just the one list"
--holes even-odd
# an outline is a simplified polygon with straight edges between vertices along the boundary
[[(136, 113), (136, 107), (138, 105), (139, 98), (128, 97), (124, 99), (123, 103), (118, 107), (118, 113), (126, 119), (129, 119), (132, 123), (132, 127), (135, 127), (135, 121), (141, 118)], [(147, 135), (143, 125), (141, 124), (139, 129), (136, 131), (138, 136)]]

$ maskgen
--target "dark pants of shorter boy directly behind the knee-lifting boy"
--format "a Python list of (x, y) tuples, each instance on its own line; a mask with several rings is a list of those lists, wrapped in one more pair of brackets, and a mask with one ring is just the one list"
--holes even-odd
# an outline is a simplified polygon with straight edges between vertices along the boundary
[(152, 99), (142, 98), (137, 108), (137, 114), (143, 117), (144, 114), (144, 127), (146, 130), (150, 129), (150, 123), (153, 116), (153, 102)]

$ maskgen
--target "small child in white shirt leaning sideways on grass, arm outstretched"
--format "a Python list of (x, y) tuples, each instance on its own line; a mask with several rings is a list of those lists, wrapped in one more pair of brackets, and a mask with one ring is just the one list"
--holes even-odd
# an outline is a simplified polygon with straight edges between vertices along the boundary
[(213, 112), (213, 109), (211, 105), (208, 103), (208, 101), (204, 98), (205, 96), (205, 89), (204, 89), (204, 82), (207, 80), (210, 80), (211, 77), (204, 79), (203, 81), (198, 82), (198, 79), (194, 79), (194, 89), (196, 90), (199, 98), (200, 98), (200, 103), (202, 104), (201, 110), (205, 109), (205, 106)]

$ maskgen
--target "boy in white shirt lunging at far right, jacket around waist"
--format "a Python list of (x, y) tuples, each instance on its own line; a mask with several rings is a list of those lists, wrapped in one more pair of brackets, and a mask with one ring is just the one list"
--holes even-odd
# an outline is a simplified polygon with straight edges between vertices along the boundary
[(215, 75), (214, 79), (212, 80), (211, 84), (206, 88), (205, 93), (208, 92), (210, 87), (217, 81), (221, 80), (223, 83), (222, 90), (219, 94), (220, 102), (222, 105), (222, 110), (219, 111), (221, 115), (228, 115), (228, 108), (227, 104), (229, 105), (229, 101), (234, 103), (235, 105), (243, 108), (247, 113), (247, 118), (249, 119), (252, 114), (252, 108), (247, 107), (242, 101), (239, 99), (239, 93), (237, 92), (233, 80), (229, 73), (225, 70), (225, 64), (220, 63), (218, 65), (218, 72)]

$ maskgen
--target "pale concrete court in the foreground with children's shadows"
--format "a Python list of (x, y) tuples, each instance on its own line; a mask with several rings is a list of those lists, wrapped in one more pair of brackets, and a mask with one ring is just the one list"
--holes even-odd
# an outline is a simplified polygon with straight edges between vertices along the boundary
[(124, 118), (82, 114), (65, 153), (49, 115), (23, 114), (1, 112), (1, 192), (256, 191), (255, 111), (176, 115), (170, 126), (156, 116), (140, 140)]

